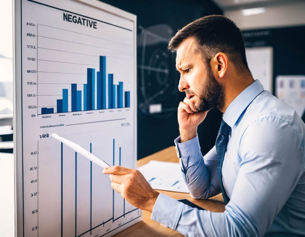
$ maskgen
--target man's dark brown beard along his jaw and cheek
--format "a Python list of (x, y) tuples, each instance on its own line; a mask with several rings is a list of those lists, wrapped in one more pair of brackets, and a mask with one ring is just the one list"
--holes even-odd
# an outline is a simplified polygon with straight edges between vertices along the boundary
[(207, 111), (213, 108), (221, 110), (224, 107), (224, 86), (216, 81), (210, 63), (206, 63), (206, 68), (206, 81), (202, 84), (195, 109), (198, 111)]

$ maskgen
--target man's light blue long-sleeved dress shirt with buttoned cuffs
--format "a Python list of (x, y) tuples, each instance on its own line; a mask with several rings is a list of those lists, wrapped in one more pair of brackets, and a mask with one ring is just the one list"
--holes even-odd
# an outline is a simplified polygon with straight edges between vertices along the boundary
[[(152, 220), (185, 236), (305, 236), (305, 124), (254, 81), (228, 106), (232, 128), (222, 166), (230, 198), (224, 213), (191, 208), (160, 194)], [(202, 156), (198, 137), (175, 140), (193, 198), (221, 192), (215, 146)]]

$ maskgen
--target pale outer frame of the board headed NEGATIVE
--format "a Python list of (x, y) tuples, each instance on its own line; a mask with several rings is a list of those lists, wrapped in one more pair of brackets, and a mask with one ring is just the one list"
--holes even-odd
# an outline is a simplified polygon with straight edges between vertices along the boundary
[[(23, 134), (22, 134), (22, 1), (13, 0), (13, 140), (14, 140), (14, 208), (15, 236), (23, 235)], [(39, 0), (36, 0), (39, 2)], [(63, 1), (63, 0), (62, 0)], [(137, 16), (97, 0), (71, 0), (106, 11), (133, 22), (134, 31), (134, 167), (137, 167)], [(20, 79), (20, 80), (17, 80)], [(18, 158), (18, 159), (17, 159)], [(140, 210), (142, 215), (142, 210)], [(143, 217), (143, 216), (142, 216)], [(140, 221), (142, 218), (140, 218)], [(120, 231), (119, 231), (120, 232)], [(115, 234), (115, 233), (114, 233)]]

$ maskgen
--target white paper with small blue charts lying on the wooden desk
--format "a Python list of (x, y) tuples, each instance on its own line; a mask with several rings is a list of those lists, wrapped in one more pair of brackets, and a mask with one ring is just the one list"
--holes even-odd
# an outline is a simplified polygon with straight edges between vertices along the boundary
[(138, 170), (153, 189), (189, 192), (179, 163), (151, 160)]

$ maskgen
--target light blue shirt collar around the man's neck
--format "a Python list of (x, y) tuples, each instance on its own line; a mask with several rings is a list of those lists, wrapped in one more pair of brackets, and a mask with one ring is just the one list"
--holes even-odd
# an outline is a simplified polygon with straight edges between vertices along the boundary
[(264, 91), (263, 85), (259, 80), (255, 80), (245, 90), (243, 90), (228, 106), (222, 116), (222, 119), (230, 126), (233, 127), (239, 119), (242, 112), (247, 106)]

